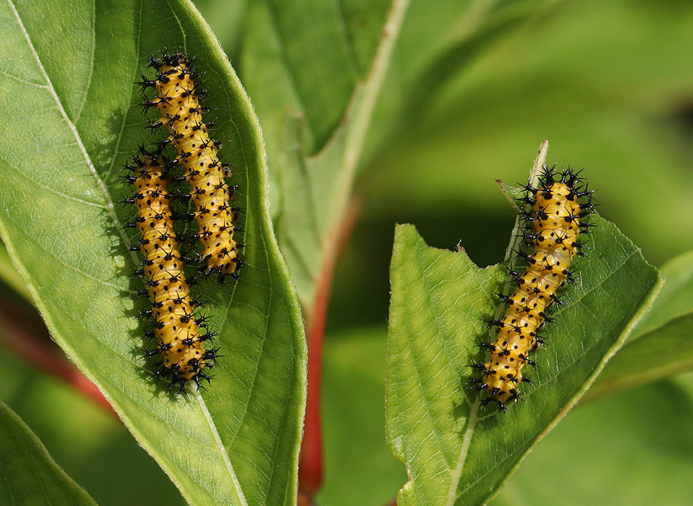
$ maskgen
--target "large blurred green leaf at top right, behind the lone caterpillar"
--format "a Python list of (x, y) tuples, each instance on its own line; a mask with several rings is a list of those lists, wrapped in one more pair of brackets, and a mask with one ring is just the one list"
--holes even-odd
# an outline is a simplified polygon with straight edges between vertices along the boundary
[[(693, 4), (681, 1), (538, 11), (408, 111), (362, 181), (364, 218), (498, 215), (491, 178), (522, 181), (526, 146), (549, 139), (549, 162), (586, 168), (599, 212), (649, 261), (693, 249), (693, 234), (681, 234), (693, 228), (692, 22)], [(678, 226), (663, 226), (670, 216)]]

